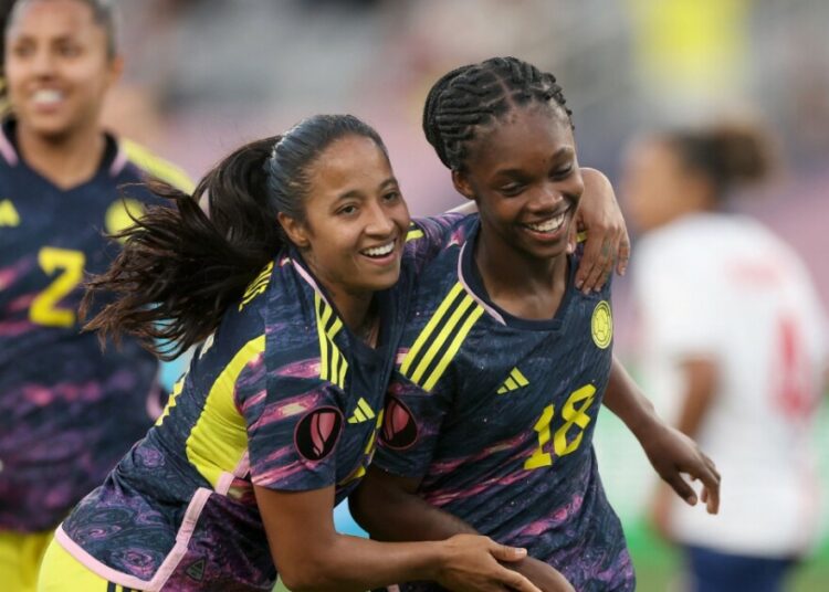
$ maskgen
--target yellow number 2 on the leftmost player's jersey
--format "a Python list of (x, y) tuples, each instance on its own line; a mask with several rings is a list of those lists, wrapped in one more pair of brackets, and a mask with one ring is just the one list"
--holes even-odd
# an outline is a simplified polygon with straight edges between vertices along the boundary
[(45, 327), (72, 327), (75, 311), (57, 304), (83, 279), (86, 257), (81, 251), (44, 246), (38, 252), (38, 263), (48, 275), (59, 275), (32, 300), (29, 319)]

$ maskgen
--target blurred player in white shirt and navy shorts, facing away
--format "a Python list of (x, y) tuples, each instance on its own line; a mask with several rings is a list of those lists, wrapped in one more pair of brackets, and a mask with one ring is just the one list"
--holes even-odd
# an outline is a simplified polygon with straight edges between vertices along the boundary
[(725, 477), (717, 519), (659, 491), (659, 531), (685, 552), (690, 589), (780, 590), (816, 535), (812, 423), (826, 317), (795, 251), (727, 211), (768, 172), (745, 126), (654, 134), (627, 151), (623, 189), (644, 233), (636, 262), (648, 392)]

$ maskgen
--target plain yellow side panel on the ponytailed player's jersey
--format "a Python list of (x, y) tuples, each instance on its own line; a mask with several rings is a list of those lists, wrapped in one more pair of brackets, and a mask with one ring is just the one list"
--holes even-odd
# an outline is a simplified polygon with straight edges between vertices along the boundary
[(244, 417), (233, 400), (242, 370), (265, 350), (265, 336), (248, 341), (210, 388), (204, 409), (187, 438), (187, 459), (216, 487), (232, 472), (248, 448)]

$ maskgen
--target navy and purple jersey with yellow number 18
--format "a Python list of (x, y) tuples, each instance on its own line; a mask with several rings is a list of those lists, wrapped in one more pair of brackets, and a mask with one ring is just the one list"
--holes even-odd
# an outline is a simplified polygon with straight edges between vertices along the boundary
[[(526, 547), (579, 591), (632, 590), (621, 525), (591, 445), (611, 366), (610, 288), (573, 285), (549, 320), (486, 296), (478, 216), (423, 271), (375, 463), (499, 542)], [(409, 583), (403, 590), (433, 590)]]

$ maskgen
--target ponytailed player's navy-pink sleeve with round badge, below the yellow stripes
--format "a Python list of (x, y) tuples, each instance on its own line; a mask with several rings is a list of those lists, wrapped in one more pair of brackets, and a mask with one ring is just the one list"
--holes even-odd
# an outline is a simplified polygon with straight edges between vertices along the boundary
[[(340, 392), (292, 364), (271, 372), (265, 392), (244, 398), (251, 480), (269, 489), (304, 491), (334, 485), (344, 431)], [(243, 388), (243, 385), (241, 387)]]

